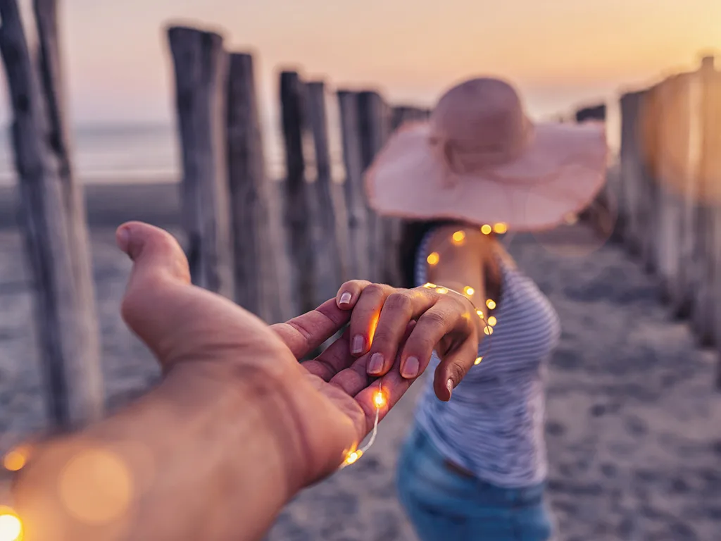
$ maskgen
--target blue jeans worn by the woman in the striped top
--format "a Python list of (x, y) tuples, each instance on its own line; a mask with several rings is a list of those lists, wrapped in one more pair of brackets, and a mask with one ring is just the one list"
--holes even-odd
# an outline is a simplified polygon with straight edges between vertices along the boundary
[(398, 493), (422, 541), (547, 541), (552, 518), (544, 483), (502, 488), (449, 467), (413, 428), (398, 466)]

